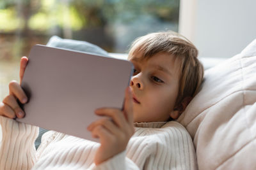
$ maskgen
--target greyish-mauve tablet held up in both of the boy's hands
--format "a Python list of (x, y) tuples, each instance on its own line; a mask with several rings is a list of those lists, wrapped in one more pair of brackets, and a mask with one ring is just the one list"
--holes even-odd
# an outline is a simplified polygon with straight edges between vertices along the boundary
[(100, 118), (94, 110), (122, 109), (132, 69), (128, 60), (35, 45), (21, 82), (26, 115), (16, 120), (98, 141), (86, 129)]

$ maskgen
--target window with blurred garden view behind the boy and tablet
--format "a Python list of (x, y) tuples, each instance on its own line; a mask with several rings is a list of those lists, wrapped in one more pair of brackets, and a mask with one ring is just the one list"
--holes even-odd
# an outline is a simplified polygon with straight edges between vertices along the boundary
[(35, 44), (45, 45), (53, 35), (88, 41), (108, 52), (124, 53), (138, 36), (178, 31), (178, 25), (178, 0), (1, 1), (0, 88), (12, 79), (18, 80), (20, 57), (28, 56)]

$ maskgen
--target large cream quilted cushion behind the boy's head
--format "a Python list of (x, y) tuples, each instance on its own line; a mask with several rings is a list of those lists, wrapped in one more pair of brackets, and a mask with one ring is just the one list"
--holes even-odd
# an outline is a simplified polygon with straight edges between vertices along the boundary
[(177, 121), (193, 138), (199, 169), (256, 169), (256, 39), (205, 71)]

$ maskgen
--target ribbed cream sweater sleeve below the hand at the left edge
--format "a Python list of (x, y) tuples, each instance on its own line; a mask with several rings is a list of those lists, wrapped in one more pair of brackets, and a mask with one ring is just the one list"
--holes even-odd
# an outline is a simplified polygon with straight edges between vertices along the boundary
[(35, 163), (38, 127), (0, 116), (0, 169), (31, 169)]

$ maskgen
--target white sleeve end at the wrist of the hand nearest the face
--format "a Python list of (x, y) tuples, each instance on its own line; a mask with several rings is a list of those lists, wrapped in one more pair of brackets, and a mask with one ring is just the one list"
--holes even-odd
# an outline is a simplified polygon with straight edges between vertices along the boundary
[(125, 151), (118, 153), (115, 157), (102, 162), (98, 166), (95, 164), (92, 165), (93, 170), (118, 170), (118, 169), (139, 169), (139, 167), (132, 162), (131, 159), (127, 158), (125, 155)]

